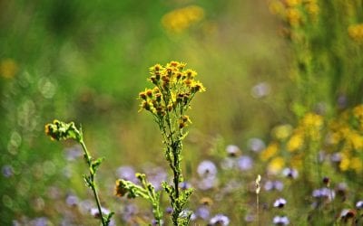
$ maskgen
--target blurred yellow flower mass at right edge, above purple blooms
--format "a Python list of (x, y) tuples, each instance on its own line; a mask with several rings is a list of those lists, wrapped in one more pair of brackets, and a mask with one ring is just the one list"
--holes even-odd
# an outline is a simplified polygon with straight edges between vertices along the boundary
[(347, 109), (329, 123), (322, 116), (309, 112), (292, 132), (291, 129), (289, 125), (275, 127), (274, 139), (260, 153), (260, 159), (267, 162), (271, 173), (278, 173), (287, 163), (299, 169), (311, 144), (318, 146), (314, 148), (338, 153), (339, 170), (363, 173), (363, 104)]

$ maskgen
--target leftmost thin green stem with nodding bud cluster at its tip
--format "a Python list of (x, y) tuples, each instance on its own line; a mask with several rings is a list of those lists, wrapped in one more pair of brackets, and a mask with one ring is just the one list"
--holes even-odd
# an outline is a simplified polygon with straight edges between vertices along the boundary
[(62, 121), (54, 120), (53, 123), (45, 125), (45, 134), (51, 137), (53, 140), (58, 140), (58, 141), (73, 139), (82, 146), (83, 157), (89, 169), (89, 174), (83, 175), (84, 182), (89, 188), (91, 188), (93, 192), (94, 200), (97, 204), (98, 216), (101, 220), (102, 225), (103, 226), (109, 225), (111, 218), (113, 216), (113, 212), (104, 215), (102, 211), (103, 208), (101, 206), (100, 198), (97, 193), (97, 186), (94, 181), (95, 174), (97, 172), (98, 167), (101, 165), (103, 158), (93, 159), (93, 157), (90, 155), (83, 141), (82, 128), (78, 129), (77, 127), (75, 127), (74, 122), (64, 123)]

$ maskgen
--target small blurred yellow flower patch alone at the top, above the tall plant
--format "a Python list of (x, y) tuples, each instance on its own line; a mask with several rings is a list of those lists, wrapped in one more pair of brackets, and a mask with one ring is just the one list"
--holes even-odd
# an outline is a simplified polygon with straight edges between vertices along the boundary
[(204, 10), (197, 5), (189, 5), (162, 16), (162, 26), (171, 33), (182, 33), (192, 24), (204, 18)]

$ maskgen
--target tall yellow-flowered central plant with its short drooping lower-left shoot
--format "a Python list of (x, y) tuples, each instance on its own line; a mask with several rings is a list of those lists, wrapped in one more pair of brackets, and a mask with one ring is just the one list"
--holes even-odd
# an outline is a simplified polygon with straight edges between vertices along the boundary
[[(182, 140), (187, 136), (185, 128), (191, 124), (191, 119), (186, 115), (191, 107), (191, 99), (195, 94), (205, 90), (200, 81), (195, 80), (196, 71), (185, 69), (186, 64), (172, 61), (166, 66), (156, 64), (150, 68), (152, 89), (145, 89), (139, 93), (141, 110), (149, 111), (162, 134), (164, 155), (168, 161), (172, 174), (172, 184), (164, 182), (162, 187), (168, 194), (172, 205), (172, 223), (174, 225), (187, 225), (191, 219), (191, 212), (185, 210), (192, 189), (182, 190), (180, 184), (182, 177)], [(142, 196), (152, 202), (155, 220), (162, 224), (159, 206), (159, 193), (155, 193), (151, 184), (144, 176), (139, 180), (142, 186), (124, 180), (116, 183), (116, 193), (128, 197)]]

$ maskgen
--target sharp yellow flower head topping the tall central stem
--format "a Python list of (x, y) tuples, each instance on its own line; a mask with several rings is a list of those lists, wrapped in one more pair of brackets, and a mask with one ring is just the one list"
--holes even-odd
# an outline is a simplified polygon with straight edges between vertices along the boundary
[[(195, 80), (196, 71), (184, 70), (186, 64), (171, 61), (165, 67), (156, 64), (150, 68), (152, 76), (149, 80), (155, 86), (139, 93), (142, 99), (141, 108), (152, 112), (157, 118), (163, 118), (168, 112), (185, 111), (197, 92), (205, 91), (199, 80)], [(185, 127), (191, 120), (181, 115), (179, 127)]]

